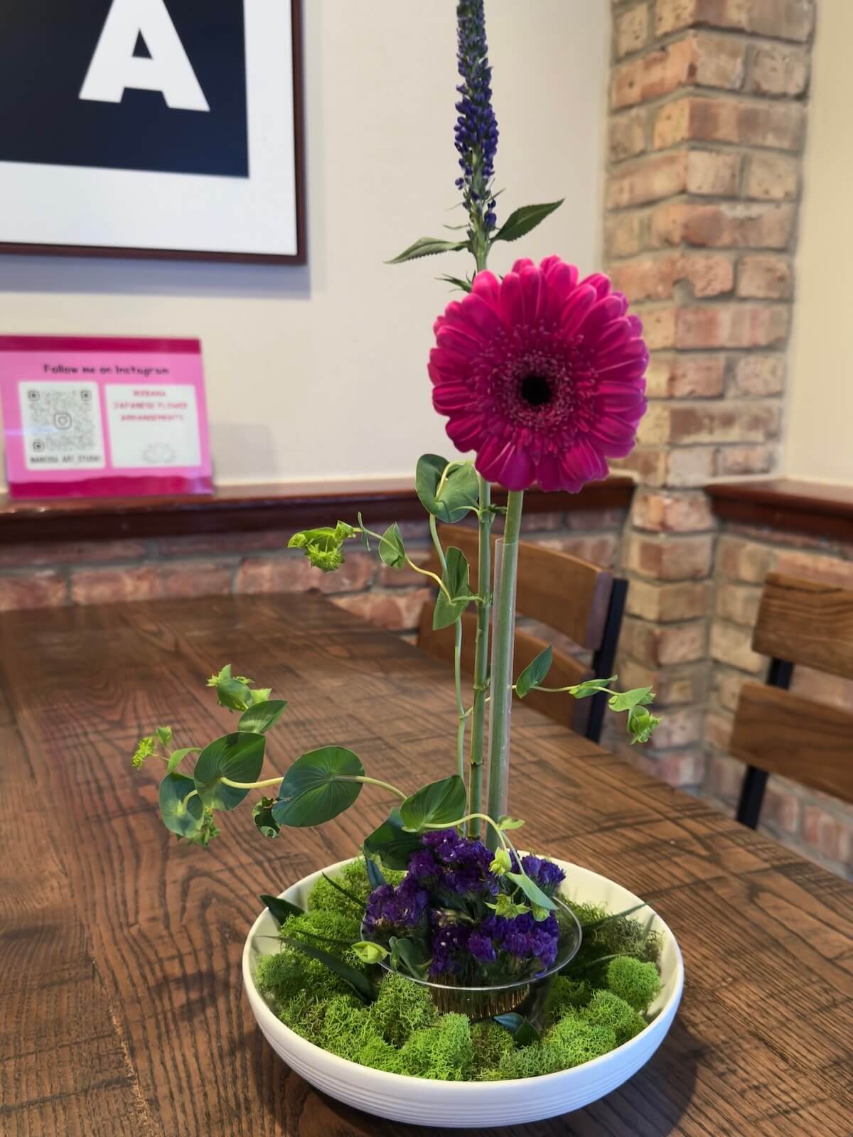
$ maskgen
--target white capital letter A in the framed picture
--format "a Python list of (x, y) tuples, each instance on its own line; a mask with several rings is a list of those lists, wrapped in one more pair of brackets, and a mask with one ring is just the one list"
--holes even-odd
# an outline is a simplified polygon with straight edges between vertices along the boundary
[[(140, 35), (148, 59), (133, 55)], [(162, 91), (175, 110), (210, 109), (164, 0), (113, 0), (80, 98), (121, 102), (127, 88)]]

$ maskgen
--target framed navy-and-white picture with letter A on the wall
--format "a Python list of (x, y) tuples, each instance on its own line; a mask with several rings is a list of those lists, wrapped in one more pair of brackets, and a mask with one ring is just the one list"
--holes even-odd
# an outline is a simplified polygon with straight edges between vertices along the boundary
[(6, 0), (0, 251), (304, 264), (300, 0)]

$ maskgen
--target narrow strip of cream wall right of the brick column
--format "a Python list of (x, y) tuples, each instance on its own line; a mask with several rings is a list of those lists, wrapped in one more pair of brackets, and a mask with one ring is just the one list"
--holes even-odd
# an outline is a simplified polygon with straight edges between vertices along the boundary
[(809, 109), (794, 343), (790, 478), (853, 484), (853, 5), (820, 6)]

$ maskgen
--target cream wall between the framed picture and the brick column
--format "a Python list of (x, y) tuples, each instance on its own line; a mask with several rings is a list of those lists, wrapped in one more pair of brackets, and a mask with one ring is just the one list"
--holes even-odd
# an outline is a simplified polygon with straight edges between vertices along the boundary
[[(197, 335), (220, 483), (411, 480), (449, 441), (430, 405), (434, 276), (382, 260), (440, 235), (453, 182), (455, 0), (304, 0), (309, 264), (0, 257), (0, 332)], [(502, 213), (563, 208), (492, 257), (599, 249), (607, 8), (487, 0)], [(457, 293), (458, 294), (458, 293)]]

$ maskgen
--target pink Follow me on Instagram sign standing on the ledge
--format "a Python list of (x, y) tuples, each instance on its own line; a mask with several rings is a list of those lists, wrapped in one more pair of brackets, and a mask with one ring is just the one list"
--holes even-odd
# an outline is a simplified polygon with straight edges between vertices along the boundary
[(0, 335), (9, 493), (209, 493), (198, 340)]

